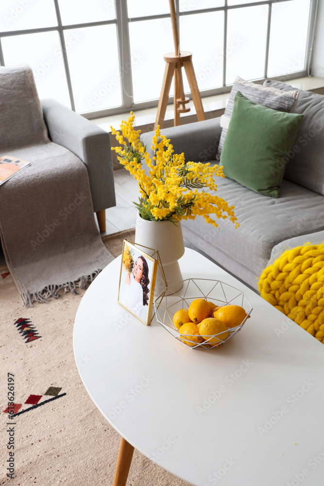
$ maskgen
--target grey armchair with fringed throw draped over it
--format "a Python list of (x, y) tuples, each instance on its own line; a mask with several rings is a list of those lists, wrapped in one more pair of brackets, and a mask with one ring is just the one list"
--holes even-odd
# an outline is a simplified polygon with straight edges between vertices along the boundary
[(54, 100), (41, 104), (28, 65), (0, 67), (0, 156), (31, 162), (0, 186), (0, 240), (26, 305), (86, 286), (112, 256), (115, 204), (109, 135)]

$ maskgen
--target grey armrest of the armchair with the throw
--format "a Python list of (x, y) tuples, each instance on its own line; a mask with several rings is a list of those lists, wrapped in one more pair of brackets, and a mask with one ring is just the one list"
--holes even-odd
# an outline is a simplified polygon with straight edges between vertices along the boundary
[(41, 105), (51, 141), (73, 152), (85, 164), (94, 211), (115, 206), (109, 134), (55, 100), (41, 100)]

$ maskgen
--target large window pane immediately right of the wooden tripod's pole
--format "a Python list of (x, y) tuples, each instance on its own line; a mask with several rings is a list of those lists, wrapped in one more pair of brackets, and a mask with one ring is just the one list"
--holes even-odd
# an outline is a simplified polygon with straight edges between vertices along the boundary
[[(218, 26), (215, 29), (215, 25)], [(192, 35), (192, 33), (195, 35)], [(180, 17), (181, 50), (192, 52), (192, 63), (200, 90), (222, 86), (224, 14)], [(185, 92), (189, 85), (183, 69)]]

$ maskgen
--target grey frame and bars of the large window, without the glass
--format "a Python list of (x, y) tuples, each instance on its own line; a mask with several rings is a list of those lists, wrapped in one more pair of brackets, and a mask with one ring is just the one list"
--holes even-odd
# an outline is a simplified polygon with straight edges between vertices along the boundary
[[(150, 100), (147, 102), (141, 103), (134, 103), (134, 96), (133, 96), (133, 79), (132, 79), (132, 63), (131, 63), (131, 47), (130, 47), (130, 37), (129, 37), (129, 23), (130, 22), (140, 22), (140, 21), (150, 21), (160, 18), (169, 18), (170, 14), (160, 14), (160, 15), (151, 15), (151, 16), (143, 16), (143, 17), (128, 17), (127, 11), (127, 1), (126, 0), (114, 0), (115, 1), (115, 11), (116, 11), (116, 18), (112, 20), (103, 20), (98, 22), (87, 22), (87, 23), (78, 23), (72, 25), (63, 25), (60, 8), (58, 0), (53, 0), (57, 18), (57, 26), (54, 27), (44, 27), (39, 29), (25, 29), (25, 30), (17, 30), (17, 31), (8, 31), (8, 32), (0, 32), (0, 65), (5, 66), (4, 63), (4, 56), (1, 47), (1, 38), (3, 37), (10, 37), (13, 35), (23, 35), (23, 34), (37, 34), (42, 32), (54, 32), (57, 31), (59, 34), (60, 46), (63, 54), (63, 63), (65, 68), (66, 80), (68, 84), (68, 93), (69, 99), (72, 110), (75, 111), (75, 103), (73, 97), (73, 87), (71, 83), (71, 77), (69, 72), (68, 66), (68, 56), (67, 50), (65, 45), (64, 39), (64, 31), (70, 29), (79, 29), (84, 27), (96, 27), (99, 25), (112, 25), (116, 24), (116, 32), (117, 32), (117, 41), (118, 41), (118, 55), (119, 55), (119, 72), (120, 72), (120, 88), (121, 88), (121, 100), (122, 104), (118, 107), (114, 108), (107, 108), (98, 111), (86, 112), (81, 113), (85, 118), (93, 119), (104, 117), (108, 115), (115, 115), (119, 113), (123, 113), (126, 111), (136, 111), (144, 108), (152, 108), (157, 106), (158, 100)], [(179, 12), (179, 0), (176, 1), (176, 10)], [(268, 23), (267, 23), (267, 36), (266, 36), (266, 51), (265, 51), (265, 65), (264, 65), (264, 73), (263, 78), (259, 78), (256, 81), (257, 83), (263, 83), (268, 78), (268, 60), (269, 60), (269, 46), (270, 46), (270, 32), (271, 32), (271, 14), (272, 14), (272, 7), (274, 3), (282, 3), (285, 1), (290, 0), (261, 0), (261, 1), (251, 1), (250, 3), (239, 4), (239, 5), (228, 5), (227, 0), (224, 0), (224, 5), (222, 7), (215, 7), (215, 8), (206, 8), (206, 9), (199, 9), (199, 10), (190, 10), (185, 12), (179, 12), (179, 16), (185, 15), (197, 15), (197, 14), (204, 14), (209, 12), (224, 12), (224, 41), (223, 41), (223, 79), (222, 79), (222, 87), (217, 87), (213, 89), (205, 89), (201, 91), (201, 96), (214, 96), (221, 93), (226, 93), (231, 90), (232, 85), (226, 85), (226, 41), (227, 41), (227, 13), (229, 10), (236, 9), (236, 8), (245, 8), (245, 7), (252, 7), (256, 5), (268, 5)], [(289, 74), (272, 76), (272, 79), (276, 80), (290, 80), (295, 79), (298, 77), (303, 77), (308, 75), (307, 67), (310, 65), (311, 61), (311, 52), (312, 52), (312, 42), (314, 38), (314, 29), (315, 29), (315, 20), (316, 20), (316, 12), (318, 7), (319, 0), (310, 0), (310, 11), (309, 11), (309, 19), (308, 19), (308, 31), (307, 31), (307, 42), (306, 42), (306, 58), (305, 58), (305, 65), (304, 69), (299, 71), (294, 71)], [(162, 62), (162, 59), (161, 59)], [(123, 66), (127, 69), (123, 69)], [(162, 80), (161, 80), (162, 83)], [(189, 94), (190, 96), (190, 94)], [(173, 103), (173, 97), (169, 98), (169, 103)]]

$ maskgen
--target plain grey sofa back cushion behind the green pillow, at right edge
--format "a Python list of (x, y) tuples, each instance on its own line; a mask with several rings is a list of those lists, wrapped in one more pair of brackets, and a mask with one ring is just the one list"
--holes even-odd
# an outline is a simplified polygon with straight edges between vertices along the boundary
[[(264, 86), (292, 89), (285, 83), (269, 79)], [(300, 89), (293, 111), (303, 114), (304, 119), (292, 150), (282, 161), (284, 178), (324, 194), (324, 96)]]

